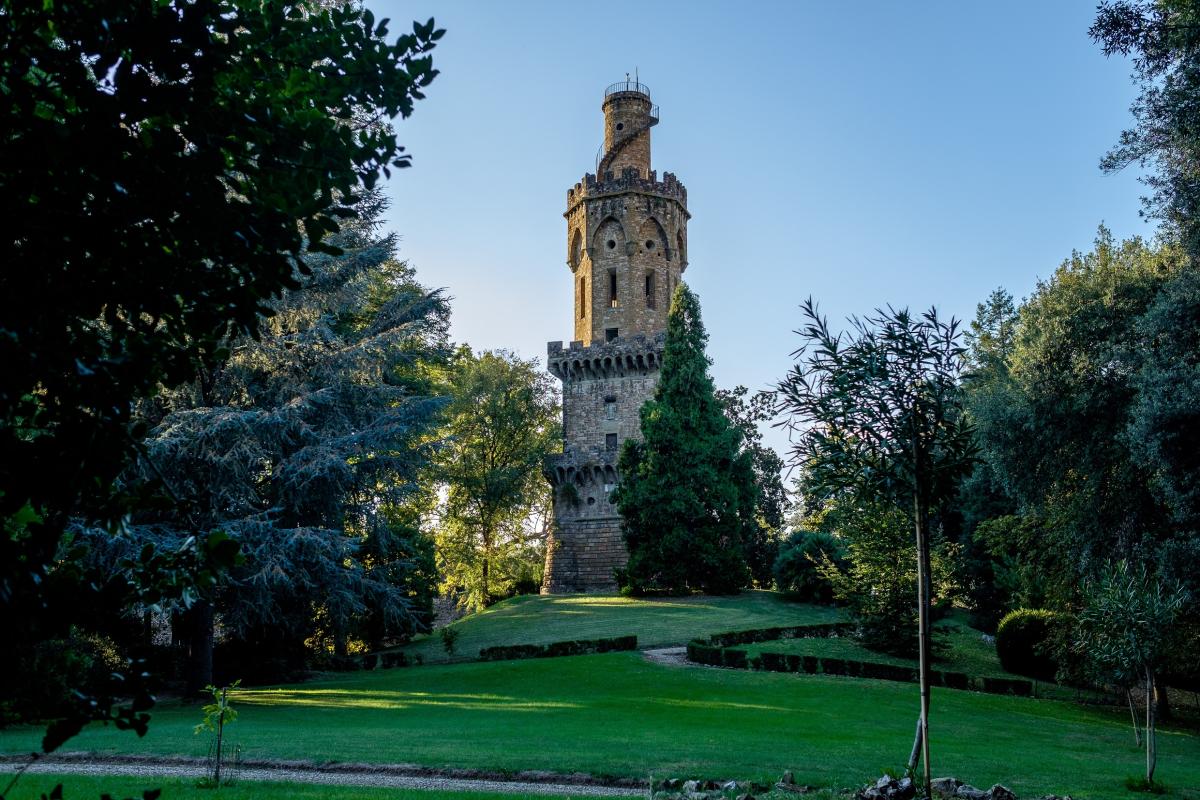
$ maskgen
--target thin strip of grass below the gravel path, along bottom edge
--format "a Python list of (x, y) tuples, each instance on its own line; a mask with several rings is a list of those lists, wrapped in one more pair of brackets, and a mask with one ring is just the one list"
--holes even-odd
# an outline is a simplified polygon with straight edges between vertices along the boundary
[[(0, 772), (0, 787), (8, 776)], [(426, 792), (419, 789), (380, 789), (373, 787), (325, 786), (314, 783), (276, 783), (268, 781), (238, 781), (222, 786), (220, 792), (199, 789), (194, 778), (49, 775), (25, 775), (10, 795), (10, 800), (36, 800), (49, 794), (56, 783), (62, 784), (66, 800), (95, 800), (107, 792), (114, 798), (140, 800), (144, 789), (162, 789), (162, 800), (558, 800), (546, 794), (492, 794), (487, 792)]]

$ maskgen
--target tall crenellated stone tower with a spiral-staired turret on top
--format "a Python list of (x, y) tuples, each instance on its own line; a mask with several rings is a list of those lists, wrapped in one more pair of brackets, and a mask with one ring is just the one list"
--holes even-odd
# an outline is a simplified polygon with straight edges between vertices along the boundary
[(566, 191), (566, 265), (575, 341), (548, 344), (563, 381), (563, 453), (546, 464), (554, 529), (544, 593), (605, 591), (629, 555), (610, 503), (622, 443), (638, 437), (654, 393), (671, 295), (688, 266), (688, 190), (650, 169), (650, 90), (624, 80), (605, 91), (595, 174)]

